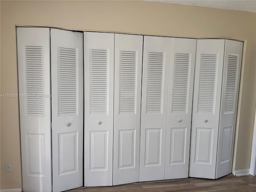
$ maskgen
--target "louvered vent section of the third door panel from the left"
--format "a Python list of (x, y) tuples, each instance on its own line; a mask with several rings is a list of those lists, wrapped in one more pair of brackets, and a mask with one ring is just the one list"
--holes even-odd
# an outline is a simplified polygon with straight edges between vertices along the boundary
[(108, 114), (108, 50), (90, 50), (90, 114)]

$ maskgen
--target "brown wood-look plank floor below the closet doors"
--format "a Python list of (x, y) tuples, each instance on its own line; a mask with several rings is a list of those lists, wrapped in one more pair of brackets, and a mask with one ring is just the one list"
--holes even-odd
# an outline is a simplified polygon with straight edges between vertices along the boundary
[(228, 175), (216, 180), (188, 178), (108, 187), (84, 187), (67, 192), (256, 192), (256, 176)]

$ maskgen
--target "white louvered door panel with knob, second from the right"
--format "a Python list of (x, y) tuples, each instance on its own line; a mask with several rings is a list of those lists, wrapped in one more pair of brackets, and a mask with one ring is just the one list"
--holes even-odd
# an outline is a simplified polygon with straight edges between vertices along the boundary
[(190, 177), (215, 178), (224, 45), (224, 39), (197, 40)]

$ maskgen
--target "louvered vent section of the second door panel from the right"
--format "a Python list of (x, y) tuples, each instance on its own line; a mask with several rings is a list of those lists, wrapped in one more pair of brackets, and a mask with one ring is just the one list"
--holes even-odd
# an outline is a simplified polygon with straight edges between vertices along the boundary
[(214, 112), (217, 62), (217, 54), (201, 54), (198, 94), (199, 113)]

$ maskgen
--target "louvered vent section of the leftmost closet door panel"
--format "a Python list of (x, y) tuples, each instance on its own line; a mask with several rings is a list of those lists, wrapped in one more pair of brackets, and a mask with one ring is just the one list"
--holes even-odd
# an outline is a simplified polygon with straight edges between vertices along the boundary
[(26, 114), (44, 115), (43, 48), (25, 46)]

